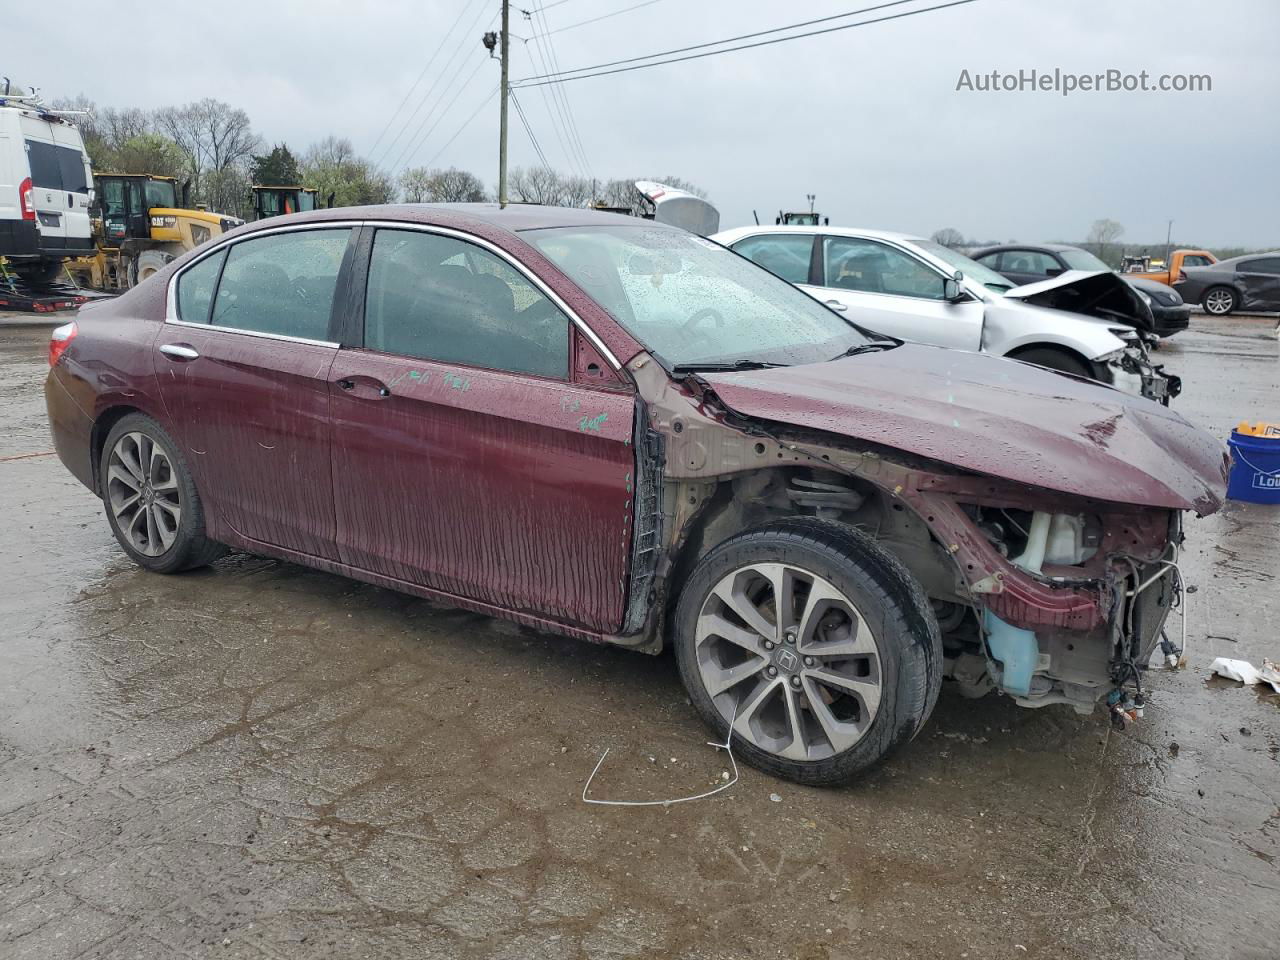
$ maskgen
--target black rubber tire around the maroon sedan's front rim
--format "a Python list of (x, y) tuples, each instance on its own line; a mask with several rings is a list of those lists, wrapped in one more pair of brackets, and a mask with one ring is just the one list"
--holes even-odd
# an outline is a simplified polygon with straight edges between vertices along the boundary
[[(827, 749), (833, 750), (829, 756), (781, 756), (753, 744), (737, 731), (732, 739), (735, 755), (758, 769), (797, 783), (844, 783), (910, 741), (933, 710), (942, 685), (942, 636), (929, 600), (900, 561), (867, 535), (835, 521), (794, 517), (744, 531), (719, 544), (698, 563), (685, 582), (672, 630), (676, 660), (690, 700), (717, 736), (724, 736), (730, 724), (704, 686), (698, 622), (716, 586), (753, 563), (785, 563), (799, 568), (824, 579), (852, 602), (874, 641), (879, 701), (869, 726), (851, 746), (836, 749), (835, 741), (826, 740)], [(781, 653), (781, 641), (776, 646)], [(797, 653), (806, 649), (804, 637), (792, 649)], [(759, 655), (777, 657), (778, 653)], [(763, 678), (763, 675), (759, 676)], [(792, 677), (791, 682), (797, 681)], [(808, 704), (810, 689), (797, 690), (801, 704)], [(791, 703), (788, 691), (783, 689), (781, 692), (787, 694), (787, 703)], [(804, 696), (799, 696), (800, 692)], [(750, 692), (745, 694), (744, 700), (750, 696)], [(813, 708), (804, 705), (801, 709), (809, 712), (809, 730), (817, 733), (820, 727)]]

